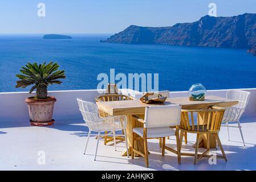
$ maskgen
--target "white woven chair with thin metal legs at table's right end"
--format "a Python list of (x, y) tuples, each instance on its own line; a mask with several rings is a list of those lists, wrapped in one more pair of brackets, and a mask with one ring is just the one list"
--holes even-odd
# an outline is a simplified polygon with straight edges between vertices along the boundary
[[(239, 127), (241, 137), (243, 140), (243, 145), (245, 146), (245, 140), (243, 139), (243, 133), (240, 125), (240, 118), (242, 117), (245, 108), (248, 104), (250, 98), (250, 92), (245, 92), (242, 90), (229, 90), (227, 91), (226, 97), (232, 100), (238, 100), (239, 103), (233, 107), (226, 109), (222, 123), (225, 123), (227, 127), (227, 135), (229, 137), (229, 127)], [(237, 122), (238, 126), (229, 126), (229, 122)], [(230, 138), (229, 138), (230, 140)]]

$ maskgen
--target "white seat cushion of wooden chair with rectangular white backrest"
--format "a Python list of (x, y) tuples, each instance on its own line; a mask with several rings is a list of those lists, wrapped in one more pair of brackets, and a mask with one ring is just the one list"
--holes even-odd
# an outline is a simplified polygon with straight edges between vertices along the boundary
[[(140, 135), (140, 137), (143, 137), (143, 130), (143, 127), (136, 127), (132, 131)], [(162, 138), (169, 136), (175, 136), (175, 130), (170, 127), (154, 127), (148, 128), (147, 130), (147, 138)]]

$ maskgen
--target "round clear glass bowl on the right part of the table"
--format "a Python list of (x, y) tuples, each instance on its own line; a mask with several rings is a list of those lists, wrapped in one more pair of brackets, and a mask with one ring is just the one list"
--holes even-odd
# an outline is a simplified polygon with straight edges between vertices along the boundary
[(206, 89), (202, 84), (194, 84), (189, 89), (190, 101), (204, 101)]

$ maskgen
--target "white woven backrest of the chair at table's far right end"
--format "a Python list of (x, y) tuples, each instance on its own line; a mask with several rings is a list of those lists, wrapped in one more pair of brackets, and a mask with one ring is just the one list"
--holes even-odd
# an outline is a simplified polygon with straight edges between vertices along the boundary
[(250, 92), (246, 92), (243, 90), (229, 90), (227, 91), (227, 98), (232, 100), (238, 100), (239, 103), (233, 107), (245, 110), (250, 98), (250, 94)]

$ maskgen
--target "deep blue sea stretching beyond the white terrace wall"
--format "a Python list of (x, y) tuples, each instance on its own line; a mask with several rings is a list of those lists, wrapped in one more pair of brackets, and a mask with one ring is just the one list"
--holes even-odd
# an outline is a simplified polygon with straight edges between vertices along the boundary
[(246, 49), (100, 43), (110, 35), (71, 35), (43, 40), (43, 35), (0, 35), (0, 92), (15, 88), (27, 62), (56, 61), (66, 71), (62, 85), (49, 90), (96, 89), (97, 75), (159, 73), (160, 90), (256, 88), (256, 56)]

